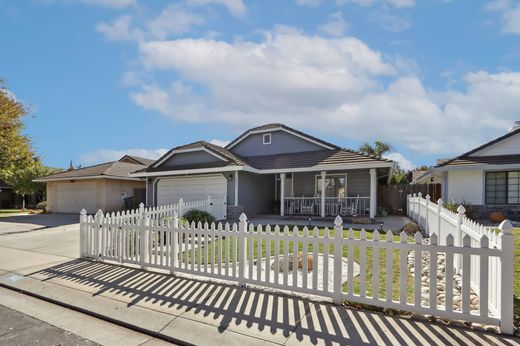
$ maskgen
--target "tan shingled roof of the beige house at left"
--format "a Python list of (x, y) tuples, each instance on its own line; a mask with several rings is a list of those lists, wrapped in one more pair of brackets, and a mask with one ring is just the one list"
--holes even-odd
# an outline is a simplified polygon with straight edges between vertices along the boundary
[(44, 177), (40, 177), (38, 179), (34, 179), (34, 181), (47, 182), (54, 180), (74, 180), (87, 178), (135, 180), (135, 178), (130, 177), (130, 173), (134, 173), (138, 170), (146, 168), (147, 166), (138, 163), (130, 163), (125, 158), (126, 155), (118, 161), (100, 163), (98, 165), (78, 168), (72, 171), (51, 174)]

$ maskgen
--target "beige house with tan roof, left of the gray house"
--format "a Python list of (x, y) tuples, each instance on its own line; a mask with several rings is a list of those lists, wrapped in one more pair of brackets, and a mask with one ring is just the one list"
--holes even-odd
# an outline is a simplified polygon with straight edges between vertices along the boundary
[[(54, 213), (94, 213), (120, 210), (123, 200), (142, 195), (146, 181), (129, 174), (148, 167), (154, 160), (125, 155), (102, 163), (35, 179), (47, 183), (47, 210)], [(135, 204), (135, 203), (134, 203)]]

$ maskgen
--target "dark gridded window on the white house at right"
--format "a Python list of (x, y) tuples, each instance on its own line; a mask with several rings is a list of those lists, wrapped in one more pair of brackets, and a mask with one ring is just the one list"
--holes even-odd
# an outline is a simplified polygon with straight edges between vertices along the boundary
[(520, 172), (486, 173), (486, 204), (520, 204)]

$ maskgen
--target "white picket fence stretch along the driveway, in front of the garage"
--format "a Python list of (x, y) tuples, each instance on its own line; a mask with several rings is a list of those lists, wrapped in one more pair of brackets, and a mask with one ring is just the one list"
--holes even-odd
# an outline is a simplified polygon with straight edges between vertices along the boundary
[(216, 220), (226, 219), (226, 200), (223, 198), (212, 198), (211, 196), (208, 196), (208, 198), (204, 200), (187, 202), (184, 202), (181, 198), (179, 203), (160, 205), (157, 207), (145, 207), (144, 204), (141, 203), (139, 209), (113, 212), (106, 214), (106, 218), (110, 218), (116, 222), (136, 225), (139, 223), (144, 212), (148, 214), (151, 220), (160, 222), (161, 220), (172, 219), (174, 213), (182, 216), (193, 209), (206, 211), (213, 215)]

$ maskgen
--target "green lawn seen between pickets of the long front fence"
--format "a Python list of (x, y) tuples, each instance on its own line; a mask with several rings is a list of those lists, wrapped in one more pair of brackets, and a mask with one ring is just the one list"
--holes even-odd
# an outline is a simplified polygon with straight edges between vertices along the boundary
[[(274, 231), (272, 231), (274, 232)], [(289, 232), (290, 235), (293, 234), (292, 230)], [(303, 235), (303, 231), (300, 230), (299, 231), (299, 234), (300, 235)], [(312, 231), (309, 231), (309, 234), (310, 236), (312, 236)], [(324, 234), (324, 229), (319, 229), (319, 235), (320, 236), (323, 236)], [(331, 230), (330, 232), (330, 236), (333, 237), (333, 230)], [(359, 230), (355, 230), (354, 231), (354, 237), (355, 238), (359, 238), (360, 236), (360, 231)], [(366, 236), (367, 236), (367, 239), (372, 239), (373, 237), (373, 234), (371, 232), (367, 232), (366, 233)], [(348, 237), (348, 231), (347, 230), (344, 230), (343, 232), (343, 237)], [(396, 236), (394, 235), (393, 236), (393, 240), (394, 241), (399, 241), (399, 236)], [(380, 236), (380, 239), (381, 240), (386, 240), (386, 235), (382, 234)], [(409, 238), (408, 241), (413, 241), (412, 238)], [(224, 244), (222, 244), (224, 243)], [(214, 242), (215, 244), (215, 254), (218, 254), (219, 251), (222, 252), (222, 263), (225, 262), (225, 253), (226, 253), (226, 246), (228, 247), (228, 253), (233, 253), (232, 252), (232, 248), (233, 248), (233, 244), (232, 244), (232, 241), (230, 239), (226, 239), (224, 240), (223, 242), (221, 241), (215, 241)], [(279, 243), (279, 253), (280, 254), (283, 254), (283, 249), (284, 249), (284, 241), (280, 241)], [(293, 250), (293, 241), (289, 241), (289, 253), (292, 253), (292, 250)], [(250, 254), (250, 251), (253, 251), (253, 258), (257, 258), (257, 252), (258, 252), (258, 244), (257, 244), (257, 240), (255, 239), (254, 240), (254, 245), (253, 245), (253, 249), (250, 249), (249, 248), (249, 242), (247, 244), (247, 249), (246, 249), (246, 258), (249, 259), (249, 254)], [(302, 251), (303, 250), (303, 244), (301, 243), (298, 243), (298, 251)], [(324, 253), (325, 251), (325, 247), (323, 244), (319, 244), (319, 247), (318, 247), (318, 252), (319, 253)], [(379, 272), (376, 273), (377, 275), (375, 275), (375, 279), (379, 279), (379, 296), (380, 298), (384, 299), (385, 298), (385, 295), (386, 295), (386, 276), (387, 276), (387, 271), (386, 271), (386, 252), (385, 250), (383, 249), (380, 249), (379, 250)], [(266, 252), (267, 252), (267, 244), (265, 241), (262, 242), (262, 245), (261, 245), (261, 257), (265, 257), (266, 256)], [(357, 263), (360, 263), (361, 262), (361, 251), (359, 249), (359, 247), (354, 247), (354, 260), (357, 262)], [(204, 263), (204, 262), (207, 262), (207, 263), (212, 263), (214, 262), (215, 264), (218, 262), (217, 260), (217, 256), (213, 256), (213, 245), (209, 245), (208, 246), (208, 258), (206, 259), (205, 258), (205, 249), (203, 248), (202, 251), (202, 261), (201, 263)], [(309, 245), (308, 247), (308, 253), (309, 254), (312, 254), (313, 253), (313, 246), (312, 245)], [(329, 248), (329, 253), (330, 254), (333, 254), (334, 253), (334, 248), (333, 246), (331, 245), (330, 248)], [(275, 245), (274, 245), (274, 241), (271, 241), (271, 245), (270, 245), (270, 255), (273, 256), (275, 254)], [(408, 252), (406, 251), (406, 255), (408, 254)], [(186, 253), (183, 254), (184, 256), (186, 255)], [(399, 273), (400, 273), (400, 270), (399, 270), (399, 262), (400, 262), (400, 252), (398, 250), (396, 251), (393, 251), (392, 253), (392, 296), (394, 299), (397, 299), (399, 297), (399, 288), (400, 288), (400, 278), (399, 278)], [(343, 256), (344, 257), (347, 257), (348, 256), (348, 249), (347, 247), (343, 247)], [(185, 257), (184, 257), (185, 258)], [(215, 260), (213, 260), (213, 258), (215, 258)], [(367, 295), (371, 296), (372, 295), (372, 289), (373, 289), (373, 282), (374, 282), (374, 278), (373, 278), (373, 259), (374, 259), (374, 253), (373, 253), (373, 249), (372, 248), (367, 248), (366, 249), (366, 272), (365, 272), (365, 277), (366, 277), (366, 292), (367, 292)], [(191, 252), (188, 253), (188, 262), (191, 261)], [(195, 250), (195, 263), (198, 263), (198, 251)], [(332, 268), (329, 268), (329, 271), (332, 270)], [(408, 271), (408, 268), (405, 269), (406, 270), (406, 280), (407, 280), (407, 291), (408, 291), (408, 294), (407, 294), (407, 299), (409, 302), (413, 302), (413, 276), (409, 273)], [(310, 280), (310, 279), (309, 279)], [(343, 286), (343, 291), (347, 292), (348, 291), (348, 284), (345, 284)], [(355, 293), (359, 293), (360, 292), (360, 276), (357, 276), (355, 279), (354, 279), (354, 292)]]

